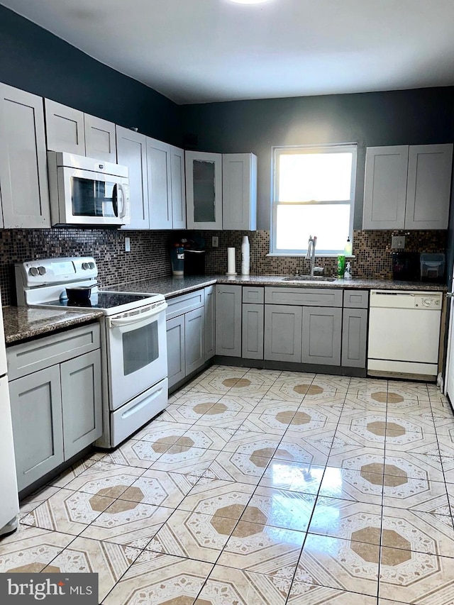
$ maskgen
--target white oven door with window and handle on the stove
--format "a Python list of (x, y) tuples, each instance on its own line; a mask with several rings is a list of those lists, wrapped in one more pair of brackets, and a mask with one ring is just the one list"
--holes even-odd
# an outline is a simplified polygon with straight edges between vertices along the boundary
[(166, 308), (163, 302), (106, 317), (111, 410), (167, 377)]

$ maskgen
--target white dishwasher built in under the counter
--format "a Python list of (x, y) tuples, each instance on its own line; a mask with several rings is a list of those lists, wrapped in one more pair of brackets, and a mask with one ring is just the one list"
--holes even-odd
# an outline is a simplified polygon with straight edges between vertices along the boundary
[(433, 380), (442, 292), (371, 290), (367, 374)]

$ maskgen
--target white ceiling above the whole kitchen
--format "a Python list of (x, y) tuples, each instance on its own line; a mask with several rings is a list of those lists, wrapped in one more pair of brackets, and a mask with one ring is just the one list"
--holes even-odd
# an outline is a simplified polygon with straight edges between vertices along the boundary
[(1, 0), (179, 104), (454, 84), (453, 0)]

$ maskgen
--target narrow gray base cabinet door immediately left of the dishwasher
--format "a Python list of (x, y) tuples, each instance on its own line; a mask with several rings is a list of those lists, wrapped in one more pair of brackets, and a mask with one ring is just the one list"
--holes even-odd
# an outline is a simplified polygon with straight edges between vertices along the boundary
[(342, 365), (366, 367), (367, 309), (344, 309)]

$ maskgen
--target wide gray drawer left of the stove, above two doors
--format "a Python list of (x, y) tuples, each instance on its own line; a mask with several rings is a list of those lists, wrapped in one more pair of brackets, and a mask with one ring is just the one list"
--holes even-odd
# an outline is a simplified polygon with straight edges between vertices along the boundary
[(6, 349), (9, 380), (99, 349), (99, 323), (37, 338)]

